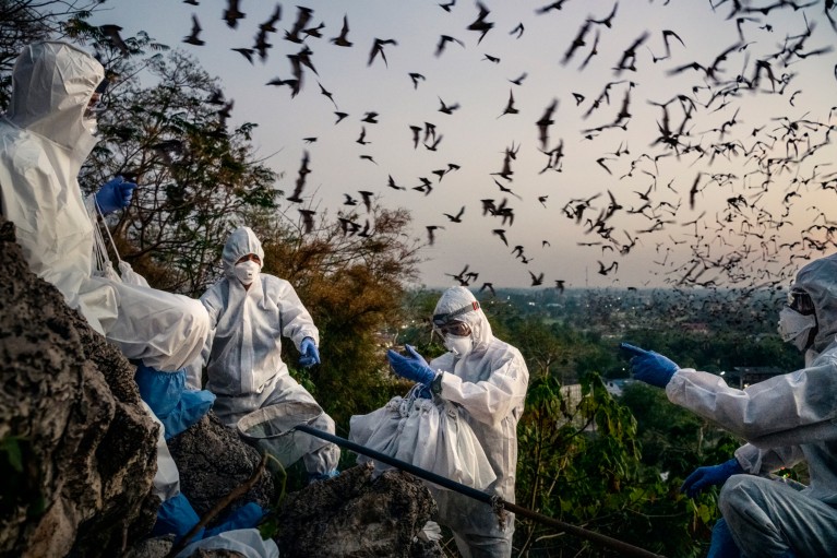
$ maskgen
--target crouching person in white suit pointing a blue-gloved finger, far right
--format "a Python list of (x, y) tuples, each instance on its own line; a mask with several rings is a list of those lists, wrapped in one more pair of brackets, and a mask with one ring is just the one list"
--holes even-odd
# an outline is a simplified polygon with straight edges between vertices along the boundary
[[(713, 557), (837, 556), (837, 254), (797, 273), (779, 333), (805, 352), (805, 368), (743, 390), (625, 347), (635, 378), (666, 388), (671, 402), (748, 442), (730, 461), (697, 468), (683, 485), (690, 496), (722, 485)], [(769, 476), (802, 461), (808, 487)]]

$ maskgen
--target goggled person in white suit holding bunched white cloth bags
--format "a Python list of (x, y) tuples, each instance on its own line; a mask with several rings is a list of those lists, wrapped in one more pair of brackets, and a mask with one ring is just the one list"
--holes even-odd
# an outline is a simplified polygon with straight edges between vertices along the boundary
[[(517, 423), (523, 414), (529, 371), (512, 345), (491, 333), (474, 295), (465, 287), (442, 294), (433, 311), (433, 329), (449, 353), (429, 364), (407, 346), (409, 356), (387, 353), (395, 373), (423, 383), (461, 409), (491, 463), (497, 479), (487, 491), (514, 502)], [(470, 558), (510, 557), (514, 513), (500, 517), (485, 502), (453, 490), (437, 497), (439, 523), (449, 526), (459, 553)]]

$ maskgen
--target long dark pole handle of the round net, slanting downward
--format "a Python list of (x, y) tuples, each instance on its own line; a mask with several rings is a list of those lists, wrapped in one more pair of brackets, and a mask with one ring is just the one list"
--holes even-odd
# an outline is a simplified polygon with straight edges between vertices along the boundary
[(355, 443), (345, 438), (340, 438), (338, 436), (334, 436), (332, 434), (324, 432), (322, 430), (318, 430), (316, 428), (312, 428), (306, 425), (299, 425), (295, 427), (294, 429), (300, 430), (306, 434), (310, 434), (311, 436), (314, 436), (316, 438), (327, 440), (332, 443), (336, 443), (337, 446), (342, 448), (351, 450), (355, 453), (367, 455), (368, 458), (372, 458), (373, 460), (380, 461), (381, 463), (386, 463), (387, 465), (392, 465), (402, 471), (406, 471), (407, 473), (416, 475), (419, 478), (423, 478), (425, 480), (429, 480), (441, 487), (447, 488), (450, 490), (455, 490), (459, 494), (474, 498), (475, 500), (485, 502), (494, 509), (506, 509), (524, 518), (528, 518), (528, 519), (538, 521), (540, 523), (543, 523), (546, 525), (557, 527), (561, 531), (565, 531), (566, 533), (575, 535), (578, 538), (584, 538), (587, 541), (599, 543), (602, 546), (609, 547), (618, 551), (620, 556), (636, 556), (637, 558), (665, 558), (661, 555), (645, 550), (644, 548), (639, 548), (638, 546), (634, 546), (634, 545), (624, 543), (622, 541), (619, 541), (617, 538), (612, 538), (607, 535), (595, 533), (593, 531), (588, 531), (586, 529), (578, 527), (570, 523), (564, 523), (563, 521), (559, 521), (559, 520), (549, 518), (547, 515), (543, 515), (541, 513), (531, 511), (527, 508), (523, 508), (515, 503), (507, 502), (500, 497), (488, 495), (481, 490), (477, 490), (476, 488), (471, 488), (469, 486), (463, 485), (462, 483), (451, 480), (450, 478), (445, 478), (443, 476), (437, 475), (435, 473), (431, 473), (430, 471), (417, 467), (416, 465), (412, 465), (411, 463), (407, 463), (406, 461), (397, 460), (395, 458), (386, 455), (385, 453), (381, 453), (375, 450), (370, 450), (369, 448), (364, 446), (360, 446), (359, 443)]

